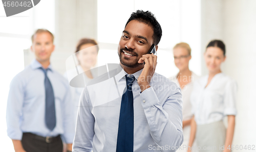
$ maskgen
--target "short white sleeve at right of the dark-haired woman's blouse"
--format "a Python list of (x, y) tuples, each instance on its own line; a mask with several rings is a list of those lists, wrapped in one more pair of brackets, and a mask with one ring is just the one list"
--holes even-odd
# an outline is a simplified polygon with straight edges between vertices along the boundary
[(227, 82), (224, 95), (224, 115), (237, 115), (236, 95), (238, 92), (237, 82), (230, 80)]

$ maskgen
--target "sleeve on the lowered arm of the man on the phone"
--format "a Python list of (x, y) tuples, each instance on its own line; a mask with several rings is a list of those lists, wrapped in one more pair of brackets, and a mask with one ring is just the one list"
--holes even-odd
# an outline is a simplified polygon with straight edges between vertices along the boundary
[[(87, 93), (87, 94), (86, 94)], [(90, 111), (88, 92), (83, 89), (77, 113), (73, 152), (91, 151), (94, 136), (94, 116)]]

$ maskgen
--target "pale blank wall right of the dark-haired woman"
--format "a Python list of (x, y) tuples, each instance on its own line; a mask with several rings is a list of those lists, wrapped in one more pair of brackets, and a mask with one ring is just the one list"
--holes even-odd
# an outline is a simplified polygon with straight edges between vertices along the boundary
[(233, 144), (252, 145), (256, 143), (256, 1), (225, 0), (223, 8), (227, 50), (223, 71), (238, 82)]

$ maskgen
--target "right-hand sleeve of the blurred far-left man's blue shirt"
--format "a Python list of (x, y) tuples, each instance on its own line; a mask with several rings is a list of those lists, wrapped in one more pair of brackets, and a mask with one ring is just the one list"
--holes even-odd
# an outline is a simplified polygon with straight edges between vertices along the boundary
[(64, 98), (64, 115), (63, 116), (63, 128), (64, 128), (64, 134), (63, 137), (65, 139), (66, 143), (72, 143), (74, 140), (74, 134), (75, 134), (75, 120), (74, 120), (74, 112), (73, 112), (73, 102), (71, 98), (70, 93), (70, 87), (67, 86), (66, 95)]

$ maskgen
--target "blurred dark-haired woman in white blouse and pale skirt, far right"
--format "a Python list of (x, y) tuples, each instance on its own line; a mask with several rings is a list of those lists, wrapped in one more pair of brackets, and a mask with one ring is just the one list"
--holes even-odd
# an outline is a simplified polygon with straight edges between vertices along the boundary
[[(194, 118), (189, 146), (196, 137), (197, 146), (201, 148), (199, 151), (231, 151), (237, 114), (237, 83), (221, 71), (225, 53), (225, 45), (221, 40), (209, 42), (204, 53), (209, 73), (194, 82), (191, 93)], [(227, 128), (223, 123), (225, 116), (228, 117)]]

